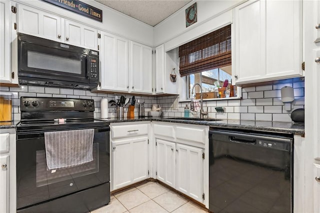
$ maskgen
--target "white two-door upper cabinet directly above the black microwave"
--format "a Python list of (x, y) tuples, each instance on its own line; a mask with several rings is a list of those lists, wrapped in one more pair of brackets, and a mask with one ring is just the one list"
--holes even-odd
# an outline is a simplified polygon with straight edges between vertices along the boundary
[(17, 6), (19, 32), (97, 50), (97, 29), (22, 4)]

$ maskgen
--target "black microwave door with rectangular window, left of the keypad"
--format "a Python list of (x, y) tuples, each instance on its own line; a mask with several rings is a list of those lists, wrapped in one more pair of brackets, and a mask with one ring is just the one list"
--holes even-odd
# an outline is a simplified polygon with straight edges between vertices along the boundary
[(43, 38), (37, 38), (34, 43), (29, 41), (29, 36), (24, 36), (27, 41), (18, 41), (19, 77), (89, 82), (86, 73), (88, 49)]

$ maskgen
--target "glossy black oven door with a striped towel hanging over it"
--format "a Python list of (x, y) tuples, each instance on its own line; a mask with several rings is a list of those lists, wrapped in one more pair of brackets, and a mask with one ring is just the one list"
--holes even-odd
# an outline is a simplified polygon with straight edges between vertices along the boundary
[(17, 209), (108, 182), (109, 131), (94, 128), (93, 161), (55, 170), (47, 169), (44, 132), (17, 133)]

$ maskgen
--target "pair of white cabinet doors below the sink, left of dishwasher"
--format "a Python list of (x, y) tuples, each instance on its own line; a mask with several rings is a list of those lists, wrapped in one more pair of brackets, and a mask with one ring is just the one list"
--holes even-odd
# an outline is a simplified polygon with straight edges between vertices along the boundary
[(155, 138), (156, 178), (202, 202), (203, 149)]

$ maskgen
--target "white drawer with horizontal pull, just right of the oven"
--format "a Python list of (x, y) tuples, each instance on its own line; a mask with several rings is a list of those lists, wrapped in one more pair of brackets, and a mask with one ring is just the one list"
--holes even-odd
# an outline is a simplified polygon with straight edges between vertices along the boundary
[(111, 138), (131, 137), (148, 134), (147, 124), (111, 126)]

